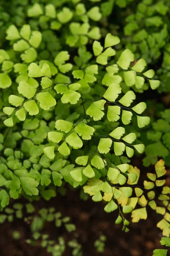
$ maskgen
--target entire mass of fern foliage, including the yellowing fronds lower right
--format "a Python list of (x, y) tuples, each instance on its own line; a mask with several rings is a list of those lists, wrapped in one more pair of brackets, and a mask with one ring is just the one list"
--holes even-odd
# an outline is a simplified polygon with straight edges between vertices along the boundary
[[(114, 25), (108, 26), (114, 5), (127, 23), (120, 21), (121, 38)], [(123, 231), (129, 230), (126, 214), (138, 222), (151, 207), (162, 215), (157, 227), (170, 235), (170, 189), (163, 177), (164, 161), (170, 166), (170, 112), (165, 110), (153, 122), (139, 96), (147, 89), (153, 93), (168, 87), (159, 87), (159, 78), (166, 80), (169, 74), (163, 18), (168, 6), (167, 0), (0, 3), (1, 223), (14, 216), (22, 219), (25, 208), (34, 214), (31, 203), (9, 208), (10, 198), (49, 201), (68, 183), (71, 189), (83, 188), (84, 197), (103, 201), (105, 212), (117, 210), (115, 223), (122, 223)], [(152, 68), (162, 51), (163, 63), (155, 75)], [(152, 131), (147, 128), (150, 121)], [(143, 153), (144, 166), (156, 165), (139, 187), (140, 170), (129, 158)], [(66, 243), (59, 237), (56, 244), (41, 233), (45, 221), (75, 231), (69, 218), (51, 208), (26, 221), (33, 233), (28, 244), (39, 240), (53, 256), (62, 255)], [(95, 241), (98, 252), (103, 252), (105, 240), (100, 236)], [(73, 256), (82, 255), (75, 238), (68, 246)]]

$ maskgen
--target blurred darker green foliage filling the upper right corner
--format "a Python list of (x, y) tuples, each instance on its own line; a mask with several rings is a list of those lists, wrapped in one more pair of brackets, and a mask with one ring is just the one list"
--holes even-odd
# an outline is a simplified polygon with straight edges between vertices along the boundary
[[(126, 46), (135, 53), (135, 58), (142, 56), (147, 63), (158, 62), (157, 77), (161, 80), (159, 92), (170, 91), (167, 77), (169, 76), (169, 1), (141, 1), (135, 12), (131, 9), (126, 17), (124, 34)], [(160, 56), (163, 59), (160, 62)], [(151, 74), (151, 73), (150, 73)], [(149, 74), (149, 76), (150, 76)], [(156, 82), (151, 81), (153, 87)]]

